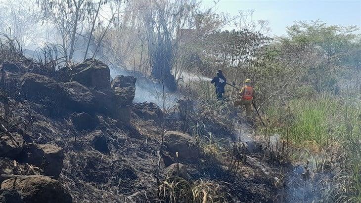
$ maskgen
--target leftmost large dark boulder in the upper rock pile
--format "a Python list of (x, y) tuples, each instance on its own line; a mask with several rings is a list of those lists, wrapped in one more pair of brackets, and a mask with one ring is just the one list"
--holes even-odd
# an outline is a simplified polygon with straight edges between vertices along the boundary
[(27, 99), (43, 100), (45, 97), (57, 98), (60, 88), (56, 81), (35, 73), (24, 74), (18, 86)]

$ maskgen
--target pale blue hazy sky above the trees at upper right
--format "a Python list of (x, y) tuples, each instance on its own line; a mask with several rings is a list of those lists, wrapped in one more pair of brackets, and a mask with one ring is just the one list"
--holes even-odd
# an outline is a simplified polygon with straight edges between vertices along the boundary
[[(210, 7), (214, 2), (203, 0), (202, 4)], [(285, 34), (285, 27), (299, 20), (320, 19), (329, 25), (361, 27), (361, 0), (220, 0), (216, 8), (230, 15), (254, 9), (253, 18), (270, 20), (271, 34), (275, 35)]]

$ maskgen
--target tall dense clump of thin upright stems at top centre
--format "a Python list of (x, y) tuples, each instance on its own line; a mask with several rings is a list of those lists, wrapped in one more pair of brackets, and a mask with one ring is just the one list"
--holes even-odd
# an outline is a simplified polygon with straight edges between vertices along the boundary
[(177, 89), (172, 75), (179, 41), (174, 40), (178, 32), (193, 26), (192, 16), (199, 6), (194, 0), (147, 0), (137, 1), (143, 6), (141, 18), (144, 22), (151, 75), (164, 81), (172, 91)]

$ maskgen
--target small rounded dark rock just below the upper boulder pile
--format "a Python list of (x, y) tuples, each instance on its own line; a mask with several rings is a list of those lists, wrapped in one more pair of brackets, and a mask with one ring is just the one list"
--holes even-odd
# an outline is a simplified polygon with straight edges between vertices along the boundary
[(95, 115), (90, 115), (88, 113), (76, 114), (72, 118), (72, 122), (78, 130), (93, 130), (99, 124), (99, 119)]

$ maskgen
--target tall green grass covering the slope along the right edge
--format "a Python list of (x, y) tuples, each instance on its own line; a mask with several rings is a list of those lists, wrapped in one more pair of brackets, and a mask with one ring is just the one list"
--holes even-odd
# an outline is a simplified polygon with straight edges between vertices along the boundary
[(361, 202), (359, 98), (330, 94), (298, 98), (283, 107), (268, 108), (266, 115), (273, 132), (308, 152), (305, 156), (297, 151), (294, 157), (309, 157), (309, 160), (323, 162), (320, 170), (327, 163), (331, 170), (338, 171), (324, 196), (325, 201)]

